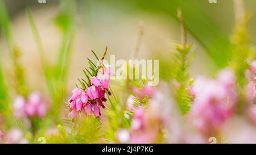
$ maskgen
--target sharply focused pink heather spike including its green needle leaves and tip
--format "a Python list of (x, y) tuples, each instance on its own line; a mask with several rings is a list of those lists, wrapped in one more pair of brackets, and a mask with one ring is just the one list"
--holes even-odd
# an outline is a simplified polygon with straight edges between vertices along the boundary
[[(72, 97), (69, 99), (69, 109), (71, 111), (71, 118), (76, 118), (79, 112), (85, 112), (87, 115), (92, 113), (96, 117), (100, 117), (100, 107), (105, 108), (104, 103), (106, 102), (105, 93), (111, 95), (109, 90), (109, 76), (113, 76), (114, 73), (110, 70), (110, 66), (104, 64), (104, 58), (108, 51), (106, 47), (104, 55), (99, 60), (99, 65), (96, 66), (90, 59), (88, 59), (90, 72), (88, 69), (84, 70), (84, 74), (88, 81), (85, 79), (79, 79), (81, 88), (77, 87), (72, 91)], [(101, 73), (101, 74), (99, 74)]]

